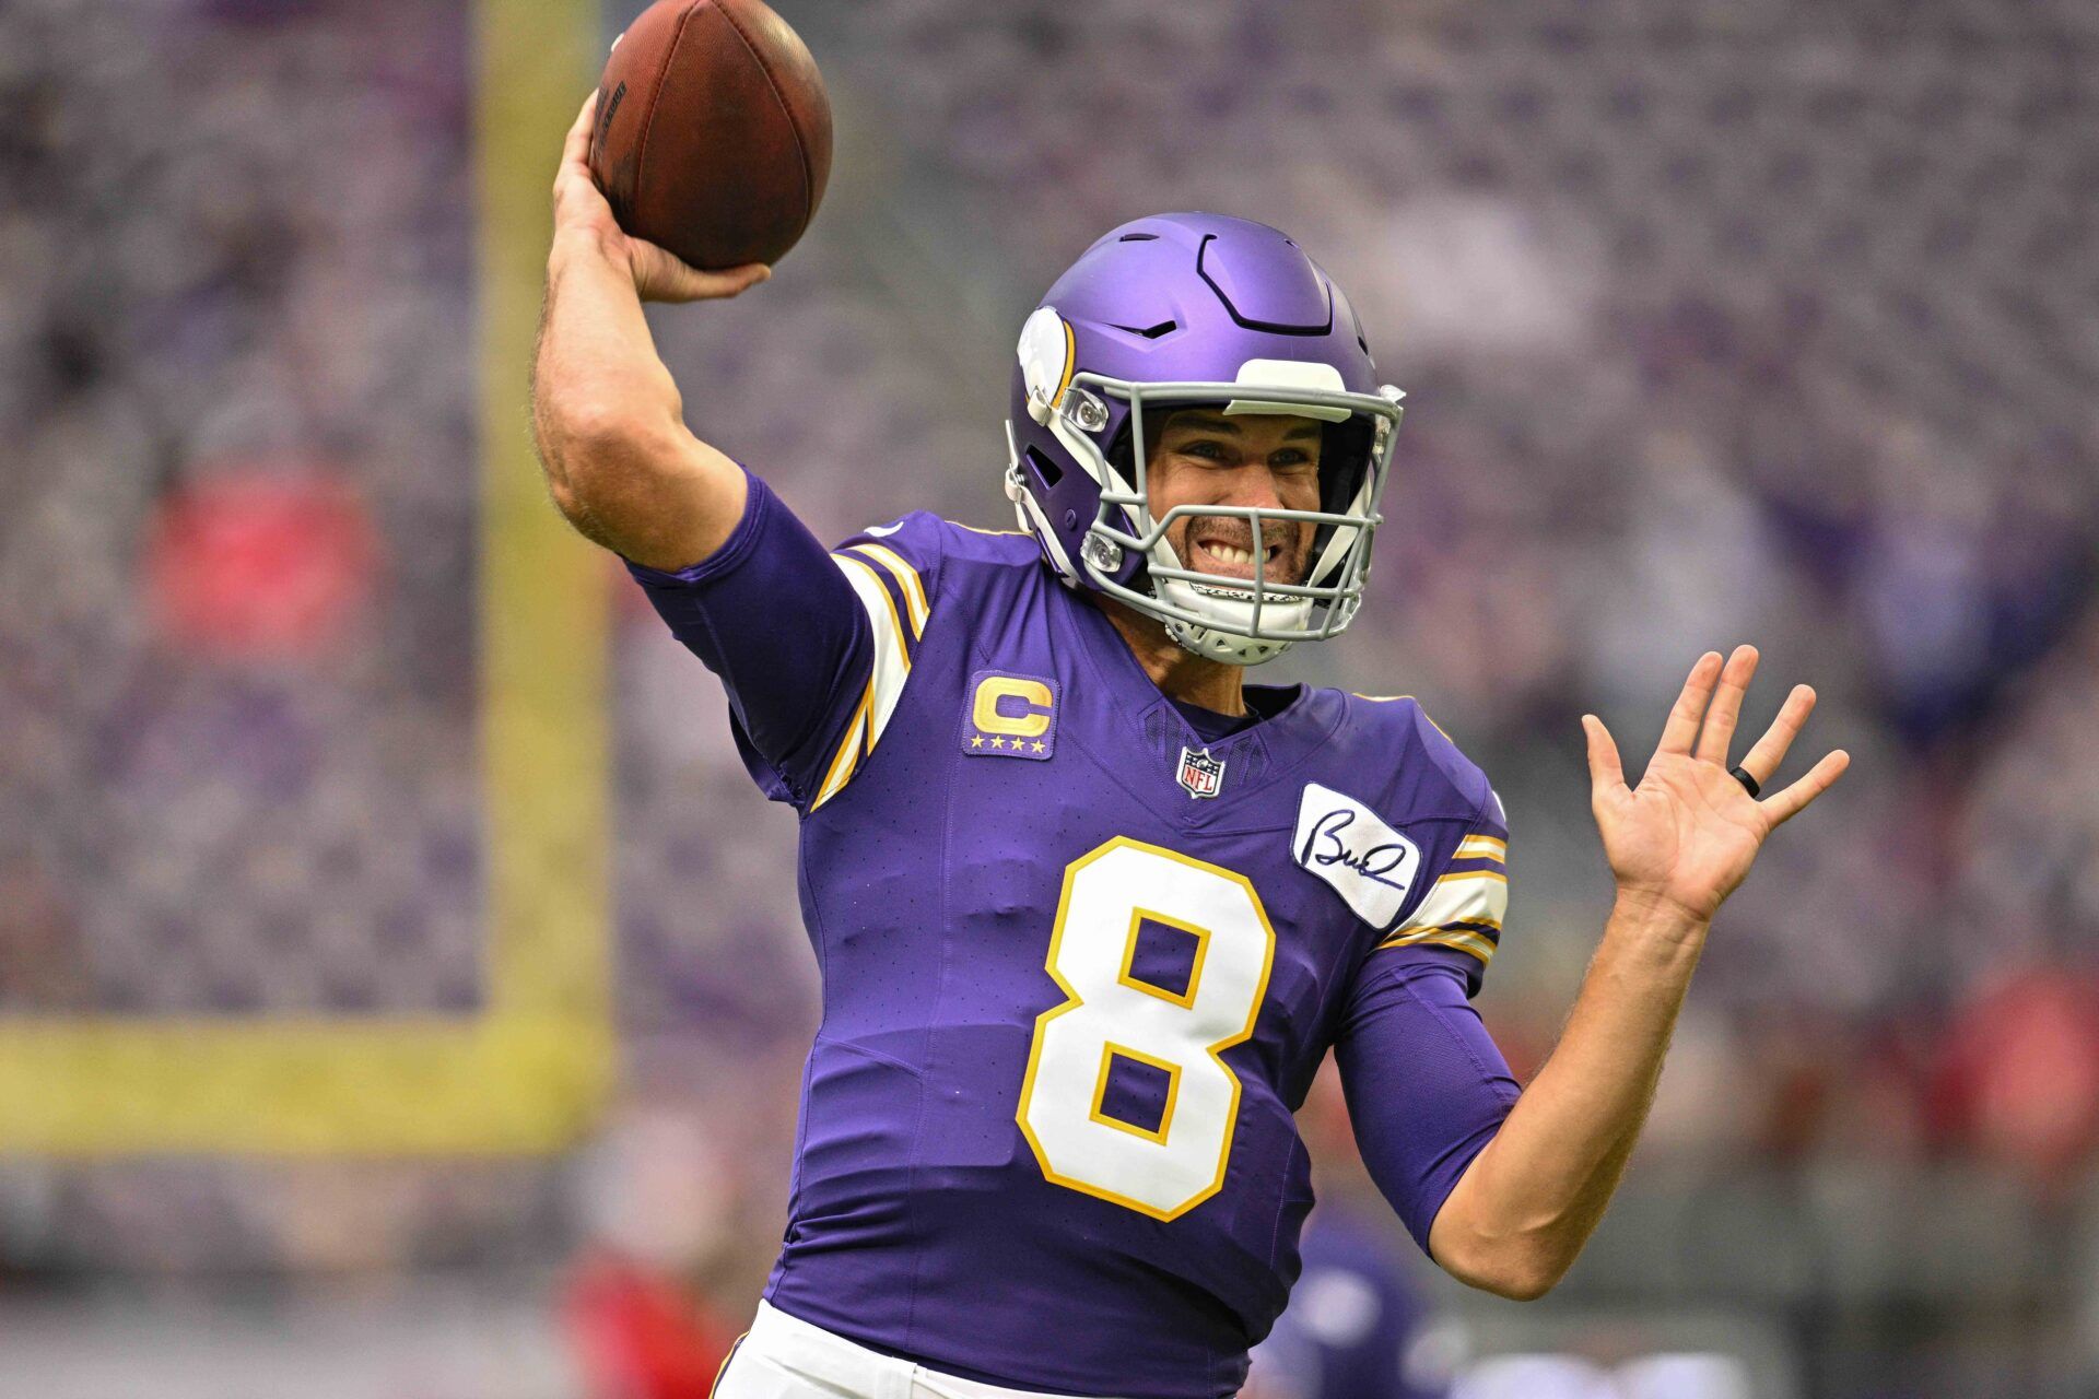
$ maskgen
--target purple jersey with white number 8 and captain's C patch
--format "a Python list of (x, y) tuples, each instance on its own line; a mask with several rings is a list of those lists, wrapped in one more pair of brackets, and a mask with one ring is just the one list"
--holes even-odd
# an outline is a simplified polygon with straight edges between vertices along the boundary
[(756, 478), (718, 554), (632, 571), (802, 812), (823, 1026), (775, 1307), (995, 1384), (1230, 1395), (1329, 1049), (1425, 1246), (1515, 1084), (1465, 1000), (1501, 803), (1411, 698), (1249, 686), (1205, 738), (1033, 539), (911, 514), (827, 554)]

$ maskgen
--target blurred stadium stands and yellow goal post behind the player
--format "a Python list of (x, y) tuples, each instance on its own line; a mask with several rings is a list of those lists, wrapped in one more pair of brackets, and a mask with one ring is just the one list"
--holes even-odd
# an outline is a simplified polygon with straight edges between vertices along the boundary
[[(793, 820), (525, 432), (544, 187), (634, 8), (0, 6), (0, 1395), (611, 1393), (623, 1267), (743, 1326)], [(1373, 606), (1282, 669), (1497, 778), (1520, 1068), (1608, 900), (1583, 709), (1644, 755), (1755, 640), (1751, 717), (1809, 680), (1853, 753), (1585, 1261), (1423, 1273), (1440, 1355), (2099, 1393), (2099, 13), (781, 10), (838, 174), (770, 285), (655, 317), (695, 428), (825, 535), (1003, 524), (1041, 287), (1142, 212), (1287, 227), (1411, 396)]]

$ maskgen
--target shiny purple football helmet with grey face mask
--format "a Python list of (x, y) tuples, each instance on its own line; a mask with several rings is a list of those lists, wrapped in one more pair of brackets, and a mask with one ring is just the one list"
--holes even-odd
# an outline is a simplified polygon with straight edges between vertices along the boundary
[[(1333, 279), (1268, 224), (1159, 214), (1085, 250), (1020, 329), (1005, 495), (1050, 566), (1165, 623), (1186, 650), (1259, 665), (1348, 627), (1371, 573), (1400, 424)], [(1186, 405), (1324, 424), (1320, 508), (1173, 505), (1152, 518), (1144, 415)], [(1299, 583), (1196, 573), (1167, 543), (1182, 516), (1310, 520)]]

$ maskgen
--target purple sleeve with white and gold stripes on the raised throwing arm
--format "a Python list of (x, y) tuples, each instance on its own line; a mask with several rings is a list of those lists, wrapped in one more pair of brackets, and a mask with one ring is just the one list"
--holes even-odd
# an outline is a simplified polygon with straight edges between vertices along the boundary
[(938, 587), (932, 516), (825, 550), (758, 476), (712, 556), (628, 573), (686, 650), (728, 690), (737, 751), (758, 787), (808, 814), (879, 742)]

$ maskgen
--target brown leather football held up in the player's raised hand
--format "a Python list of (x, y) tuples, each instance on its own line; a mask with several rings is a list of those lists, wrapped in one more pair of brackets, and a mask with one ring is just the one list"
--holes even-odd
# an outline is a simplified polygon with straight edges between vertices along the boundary
[(590, 172), (621, 229), (693, 266), (779, 262), (831, 176), (817, 61), (762, 0), (655, 0), (605, 63)]

